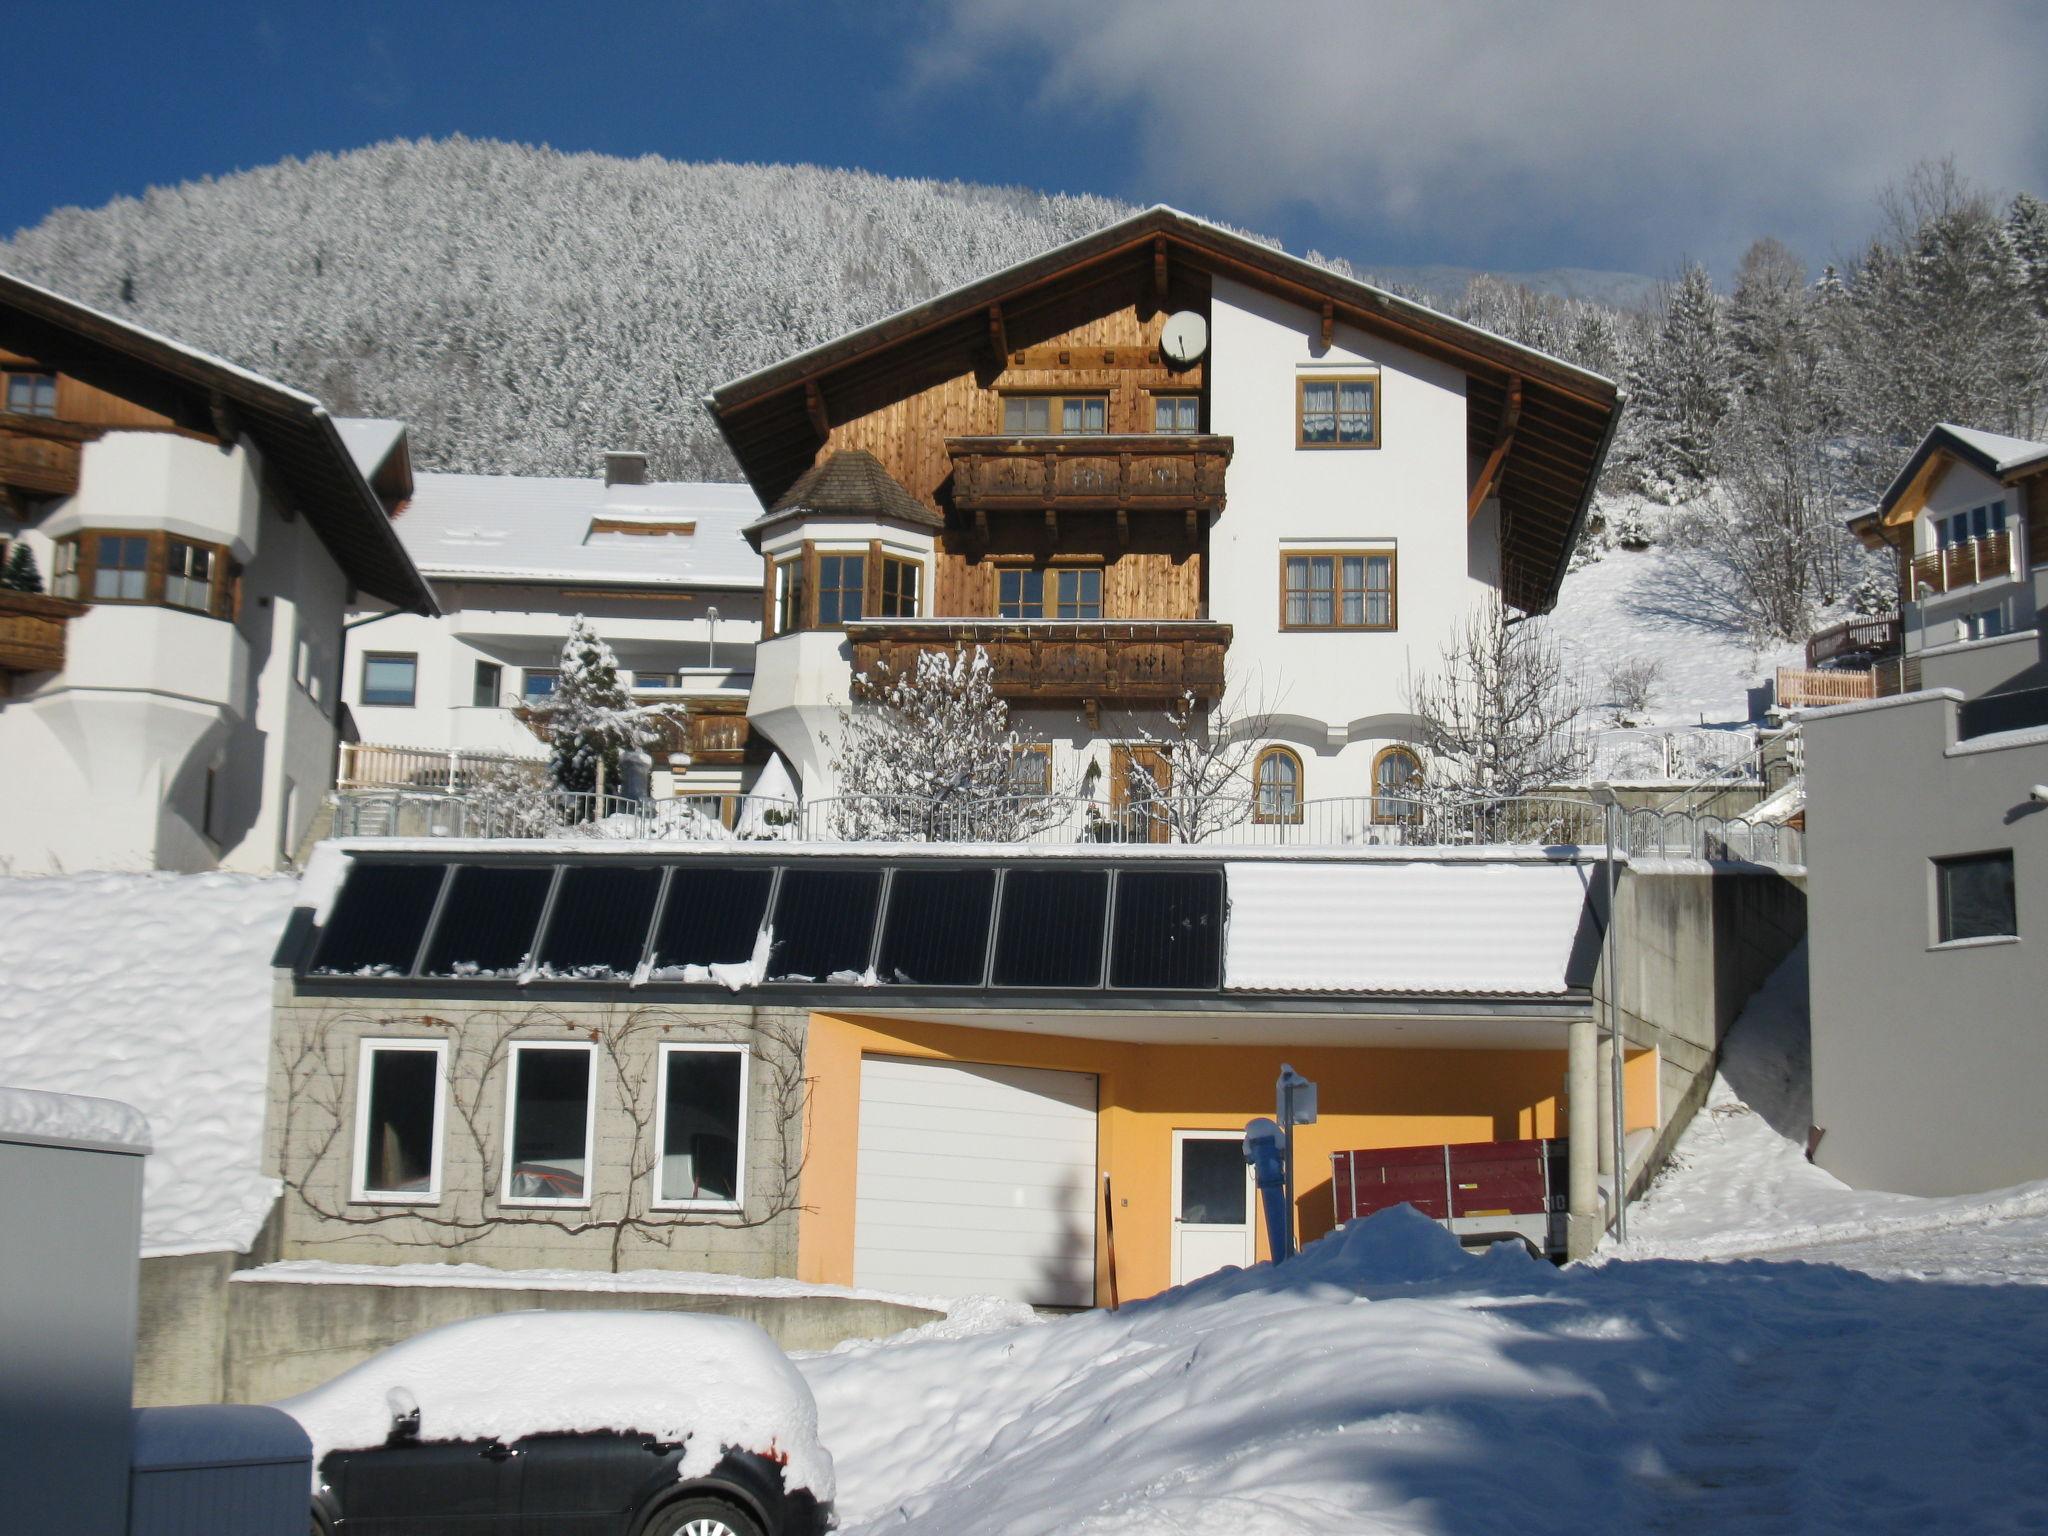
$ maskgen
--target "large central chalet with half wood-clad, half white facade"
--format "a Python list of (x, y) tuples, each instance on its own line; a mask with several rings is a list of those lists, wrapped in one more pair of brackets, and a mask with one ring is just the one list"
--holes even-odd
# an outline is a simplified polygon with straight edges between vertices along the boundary
[(1184, 694), (1260, 813), (1421, 768), (1411, 672), (1556, 600), (1610, 381), (1157, 207), (713, 391), (764, 508), (748, 707), (831, 793), (852, 676), (987, 649), (1022, 788), (1118, 799)]

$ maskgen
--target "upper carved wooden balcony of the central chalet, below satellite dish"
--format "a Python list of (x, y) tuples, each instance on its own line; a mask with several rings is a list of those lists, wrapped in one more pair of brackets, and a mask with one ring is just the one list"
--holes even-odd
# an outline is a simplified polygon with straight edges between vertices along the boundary
[(1221, 512), (1231, 438), (946, 438), (963, 512)]

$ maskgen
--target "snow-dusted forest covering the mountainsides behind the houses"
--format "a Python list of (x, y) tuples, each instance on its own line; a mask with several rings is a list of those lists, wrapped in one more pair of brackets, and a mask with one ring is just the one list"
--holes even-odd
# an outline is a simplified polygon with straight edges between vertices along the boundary
[[(657, 475), (729, 479), (709, 387), (1130, 211), (457, 137), (59, 209), (0, 266), (403, 418), (426, 469), (580, 475), (637, 446)], [(1757, 639), (1849, 598), (1841, 514), (1931, 422), (2048, 426), (2048, 207), (1946, 162), (1903, 174), (1853, 252), (1759, 231), (1729, 293), (1673, 266), (1642, 309), (1493, 276), (1413, 297), (1620, 381), (1608, 510), (1649, 506), (1651, 537), (1702, 549)], [(1610, 532), (1645, 537), (1595, 522), (1587, 553)]]

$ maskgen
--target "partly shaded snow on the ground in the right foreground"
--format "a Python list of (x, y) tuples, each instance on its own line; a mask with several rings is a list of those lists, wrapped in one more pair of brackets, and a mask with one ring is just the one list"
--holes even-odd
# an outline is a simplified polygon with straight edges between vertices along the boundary
[(1808, 1165), (1802, 999), (1800, 952), (1595, 1264), (1397, 1208), (1120, 1313), (803, 1360), (848, 1536), (2048, 1530), (2048, 1186)]

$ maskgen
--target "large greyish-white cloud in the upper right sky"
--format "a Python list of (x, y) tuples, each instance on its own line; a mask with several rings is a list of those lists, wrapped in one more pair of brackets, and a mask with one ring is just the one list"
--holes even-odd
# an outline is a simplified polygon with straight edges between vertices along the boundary
[(1821, 262), (1917, 160), (2007, 190), (2042, 190), (2048, 162), (2048, 25), (2025, 0), (942, 10), (926, 78), (1014, 90), (1028, 59), (1067, 143), (1137, 121), (1126, 193), (1251, 223), (1311, 207), (1362, 254), (1669, 270), (1778, 233)]

